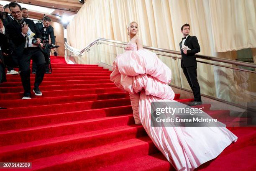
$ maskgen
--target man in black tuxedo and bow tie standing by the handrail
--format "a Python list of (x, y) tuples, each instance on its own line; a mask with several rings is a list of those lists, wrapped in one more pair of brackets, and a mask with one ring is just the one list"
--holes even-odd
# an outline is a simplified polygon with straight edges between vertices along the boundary
[(179, 47), (182, 54), (181, 67), (194, 94), (194, 101), (189, 105), (194, 106), (202, 104), (200, 86), (197, 81), (197, 61), (195, 57), (195, 54), (200, 52), (200, 46), (196, 36), (189, 36), (189, 31), (189, 24), (184, 24), (181, 28), (183, 38), (179, 43)]

